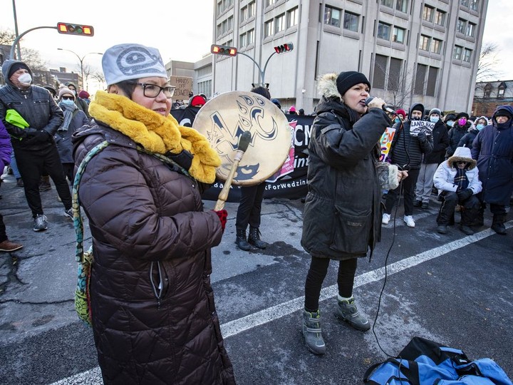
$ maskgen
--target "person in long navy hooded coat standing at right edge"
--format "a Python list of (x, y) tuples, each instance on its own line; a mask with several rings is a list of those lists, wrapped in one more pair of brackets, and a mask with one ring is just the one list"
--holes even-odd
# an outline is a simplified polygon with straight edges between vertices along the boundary
[(484, 127), (472, 143), (472, 158), (477, 160), (483, 203), (478, 225), (483, 225), (484, 203), (493, 214), (492, 230), (505, 235), (509, 198), (513, 193), (513, 107), (499, 106), (492, 124)]

